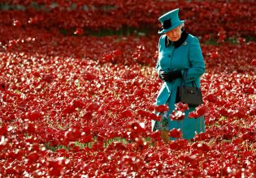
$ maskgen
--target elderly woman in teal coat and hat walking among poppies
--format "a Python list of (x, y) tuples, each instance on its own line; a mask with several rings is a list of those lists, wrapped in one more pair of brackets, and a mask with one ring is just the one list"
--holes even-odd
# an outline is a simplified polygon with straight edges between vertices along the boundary
[(153, 130), (159, 129), (164, 142), (170, 139), (168, 134), (171, 129), (180, 129), (185, 139), (194, 138), (195, 133), (205, 131), (204, 117), (189, 118), (189, 112), (195, 110), (189, 106), (182, 121), (171, 121), (171, 112), (175, 109), (176, 91), (180, 85), (185, 71), (185, 85), (193, 86), (193, 82), (200, 87), (200, 77), (205, 72), (205, 63), (202, 50), (197, 37), (184, 31), (184, 20), (180, 20), (179, 9), (167, 12), (158, 20), (162, 28), (158, 31), (163, 34), (158, 42), (158, 62), (156, 69), (158, 76), (163, 80), (163, 85), (158, 92), (157, 105), (167, 104), (168, 112), (160, 112), (161, 121), (153, 121)]

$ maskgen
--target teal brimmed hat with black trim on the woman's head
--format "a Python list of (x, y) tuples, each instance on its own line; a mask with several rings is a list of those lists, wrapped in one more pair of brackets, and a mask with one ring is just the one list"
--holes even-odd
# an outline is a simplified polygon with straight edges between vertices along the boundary
[(162, 23), (162, 28), (158, 31), (158, 34), (168, 32), (184, 23), (184, 20), (179, 18), (179, 9), (167, 12), (158, 20)]

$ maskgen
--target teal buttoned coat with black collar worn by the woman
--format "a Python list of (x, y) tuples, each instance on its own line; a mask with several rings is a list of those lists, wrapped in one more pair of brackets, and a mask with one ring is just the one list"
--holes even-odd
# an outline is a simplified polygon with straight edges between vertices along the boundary
[[(181, 70), (183, 75), (184, 70), (187, 70), (185, 84), (193, 86), (193, 82), (195, 82), (197, 87), (200, 87), (200, 77), (205, 72), (205, 62), (197, 37), (183, 31), (180, 40), (171, 42), (166, 35), (160, 36), (156, 70), (158, 73), (160, 70), (166, 72)], [(163, 122), (152, 121), (152, 129), (164, 129), (166, 126), (169, 130), (180, 129), (183, 138), (191, 139), (194, 138), (195, 132), (199, 134), (205, 131), (204, 117), (189, 118), (189, 112), (193, 112), (195, 108), (189, 107), (189, 110), (185, 112), (183, 121), (171, 121), (168, 117), (175, 109), (176, 91), (180, 83), (181, 78), (176, 78), (171, 82), (163, 82), (161, 89), (158, 91), (156, 104), (168, 104), (169, 111), (165, 114), (160, 113), (163, 115)]]

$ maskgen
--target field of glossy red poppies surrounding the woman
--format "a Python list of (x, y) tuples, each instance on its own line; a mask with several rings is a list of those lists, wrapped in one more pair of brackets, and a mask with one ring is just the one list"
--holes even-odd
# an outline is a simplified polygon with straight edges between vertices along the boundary
[[(165, 144), (154, 66), (158, 17), (176, 7), (202, 44), (206, 133)], [(256, 176), (256, 2), (0, 8), (0, 177)]]

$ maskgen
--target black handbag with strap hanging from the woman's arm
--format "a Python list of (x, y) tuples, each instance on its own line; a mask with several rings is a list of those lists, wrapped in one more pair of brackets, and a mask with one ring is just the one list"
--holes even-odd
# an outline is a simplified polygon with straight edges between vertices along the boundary
[(202, 104), (202, 91), (197, 87), (197, 83), (194, 81), (193, 87), (185, 86), (184, 80), (187, 75), (187, 70), (185, 70), (184, 77), (180, 83), (180, 86), (177, 87), (176, 92), (176, 103), (182, 102), (188, 104), (189, 106), (197, 107)]

